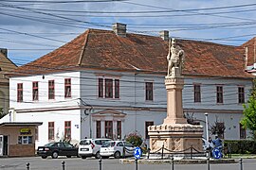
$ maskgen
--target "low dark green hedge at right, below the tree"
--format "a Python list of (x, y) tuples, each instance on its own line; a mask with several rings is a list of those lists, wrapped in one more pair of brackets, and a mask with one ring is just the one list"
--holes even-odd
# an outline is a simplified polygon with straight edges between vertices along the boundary
[(256, 142), (249, 140), (226, 140), (224, 147), (229, 147), (231, 154), (256, 154)]

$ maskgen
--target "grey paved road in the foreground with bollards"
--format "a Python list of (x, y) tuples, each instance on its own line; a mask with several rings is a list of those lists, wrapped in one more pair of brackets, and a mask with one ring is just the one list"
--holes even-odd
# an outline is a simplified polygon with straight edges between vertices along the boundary
[[(65, 161), (65, 170), (99, 170), (99, 160), (80, 158), (59, 158), (46, 160), (40, 157), (29, 158), (1, 158), (2, 170), (27, 170), (27, 162), (30, 170), (63, 170), (62, 161)], [(244, 170), (255, 170), (256, 160), (244, 160)], [(102, 160), (102, 170), (135, 170), (135, 164), (120, 164), (119, 160)], [(138, 170), (171, 170), (170, 164), (138, 164)], [(207, 170), (206, 164), (175, 164), (174, 170)], [(239, 163), (210, 164), (210, 170), (240, 170)]]

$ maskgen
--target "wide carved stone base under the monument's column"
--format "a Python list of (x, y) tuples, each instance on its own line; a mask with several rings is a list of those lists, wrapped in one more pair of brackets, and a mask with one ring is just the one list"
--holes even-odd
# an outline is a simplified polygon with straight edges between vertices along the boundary
[(190, 152), (190, 147), (202, 151), (202, 126), (190, 124), (163, 124), (148, 128), (150, 136), (150, 148), (154, 152), (162, 146), (171, 151)]

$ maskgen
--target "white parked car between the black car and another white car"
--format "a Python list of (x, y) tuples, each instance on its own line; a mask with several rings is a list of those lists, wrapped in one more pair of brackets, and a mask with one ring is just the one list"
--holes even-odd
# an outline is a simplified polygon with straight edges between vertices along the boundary
[(101, 145), (107, 141), (111, 141), (110, 139), (83, 139), (79, 145), (79, 156), (82, 159), (86, 159), (87, 157), (95, 157), (96, 159), (100, 159), (100, 148)]

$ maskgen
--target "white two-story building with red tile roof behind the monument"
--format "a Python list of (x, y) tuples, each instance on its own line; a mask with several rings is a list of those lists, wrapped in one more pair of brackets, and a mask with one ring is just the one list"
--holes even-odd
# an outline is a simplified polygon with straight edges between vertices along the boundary
[[(166, 117), (167, 31), (160, 37), (88, 29), (73, 41), (10, 76), (11, 114), (1, 121), (43, 122), (37, 145), (84, 137), (123, 139)], [(211, 42), (179, 41), (186, 53), (184, 115), (205, 126), (224, 123), (225, 139), (244, 139), (239, 121), (251, 88), (244, 50)]]

